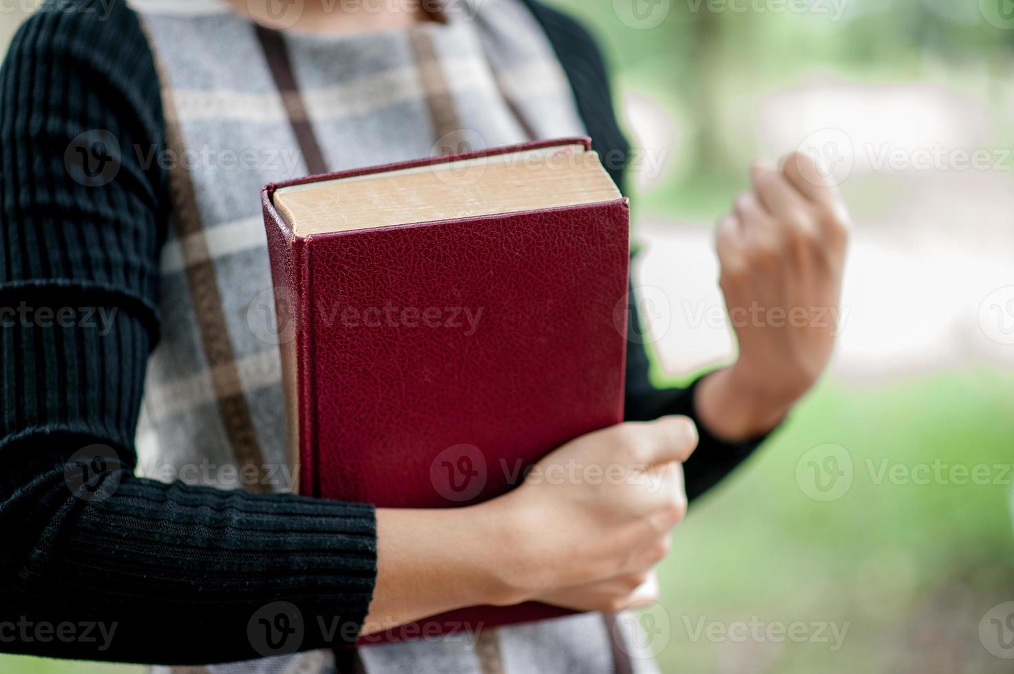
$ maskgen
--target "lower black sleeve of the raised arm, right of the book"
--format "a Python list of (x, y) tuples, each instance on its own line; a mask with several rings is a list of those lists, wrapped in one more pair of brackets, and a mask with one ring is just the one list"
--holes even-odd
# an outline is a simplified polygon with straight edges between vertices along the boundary
[(686, 497), (692, 501), (728, 475), (749, 456), (770, 434), (743, 442), (727, 442), (713, 435), (700, 422), (694, 404), (695, 391), (701, 379), (686, 388), (655, 388), (648, 378), (648, 355), (638, 312), (637, 296), (630, 290), (627, 342), (627, 389), (625, 417), (627, 421), (643, 422), (664, 415), (683, 415), (694, 420), (698, 427), (698, 447), (683, 464)]

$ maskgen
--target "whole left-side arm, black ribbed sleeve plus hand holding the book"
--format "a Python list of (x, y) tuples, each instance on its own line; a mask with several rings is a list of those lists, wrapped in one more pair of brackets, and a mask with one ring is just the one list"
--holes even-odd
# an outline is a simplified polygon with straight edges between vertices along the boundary
[[(165, 176), (142, 160), (162, 147), (161, 106), (136, 16), (85, 8), (37, 14), (0, 69), (0, 623), (29, 628), (2, 648), (209, 663), (265, 655), (256, 630), (275, 602), (304, 625), (286, 649), (305, 650), (354, 641), (368, 608), (389, 626), (605, 578), (620, 581), (604, 598), (563, 603), (621, 600), (681, 515), (685, 421), (547, 458), (627, 457), (630, 480), (529, 483), (444, 512), (133, 474), (167, 211)], [(34, 638), (63, 624), (88, 638)]]

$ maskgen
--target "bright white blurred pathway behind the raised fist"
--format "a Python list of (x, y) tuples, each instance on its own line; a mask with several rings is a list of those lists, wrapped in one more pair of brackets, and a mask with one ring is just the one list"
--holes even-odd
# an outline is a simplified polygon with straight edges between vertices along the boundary
[[(1014, 87), (998, 95), (995, 85), (970, 80), (956, 93), (939, 84), (815, 79), (735, 101), (757, 110), (738, 136), (723, 132), (738, 138), (737, 153), (816, 150), (839, 167), (856, 229), (837, 377), (1014, 366), (1014, 149), (997, 140), (1012, 137), (1009, 116), (987, 113), (997, 98), (1014, 110)], [(685, 161), (658, 103), (635, 94), (625, 108), (641, 147)], [(750, 158), (741, 157), (744, 170)], [(646, 175), (636, 175), (642, 189), (653, 181)], [(645, 246), (641, 309), (665, 370), (684, 374), (729, 359), (711, 226), (642, 220), (635, 237)]]

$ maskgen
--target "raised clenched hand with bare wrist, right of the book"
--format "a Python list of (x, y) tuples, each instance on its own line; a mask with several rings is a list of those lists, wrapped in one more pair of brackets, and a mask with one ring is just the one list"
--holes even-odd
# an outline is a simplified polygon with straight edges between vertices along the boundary
[(802, 153), (751, 168), (717, 230), (719, 285), (739, 343), (736, 363), (699, 386), (701, 421), (745, 439), (771, 430), (817, 380), (842, 328), (849, 215), (830, 176)]

